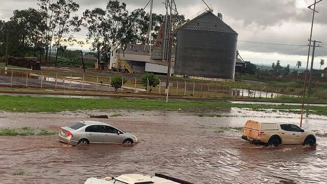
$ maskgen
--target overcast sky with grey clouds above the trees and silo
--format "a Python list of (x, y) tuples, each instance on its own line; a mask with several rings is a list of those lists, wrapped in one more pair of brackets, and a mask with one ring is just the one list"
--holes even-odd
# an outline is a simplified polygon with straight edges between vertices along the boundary
[[(124, 0), (128, 10), (143, 8), (149, 0)], [(154, 0), (154, 12), (165, 12), (164, 0)], [(82, 15), (85, 9), (100, 7), (105, 9), (107, 0), (76, 0), (80, 4), (77, 13)], [(178, 12), (186, 18), (192, 17), (206, 6), (201, 0), (175, 0)], [(282, 46), (269, 44), (246, 43), (242, 41), (269, 42), (282, 44), (306, 45), (310, 36), (312, 11), (307, 7), (314, 0), (206, 0), (214, 13), (223, 13), (223, 20), (239, 33), (238, 50), (244, 60), (258, 64), (271, 64), (277, 60), (282, 65), (302, 61), (306, 65), (308, 48), (297, 46)], [(3, 9), (25, 9), (37, 7), (36, 0), (2, 0), (0, 19), (8, 20), (12, 12)], [(149, 11), (149, 9), (147, 9)], [(316, 49), (315, 68), (319, 68), (321, 58), (327, 60), (327, 0), (317, 5), (318, 14), (315, 17), (313, 39), (322, 41), (322, 48)], [(80, 40), (84, 39), (85, 31), (76, 34)], [(75, 47), (76, 48), (76, 47)], [(84, 47), (84, 49), (86, 49)], [(327, 67), (327, 63), (324, 67)]]

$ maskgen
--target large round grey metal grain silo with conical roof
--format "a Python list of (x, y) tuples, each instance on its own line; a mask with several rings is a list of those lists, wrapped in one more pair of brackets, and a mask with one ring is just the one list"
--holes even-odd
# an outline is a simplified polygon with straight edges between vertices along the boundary
[(197, 79), (233, 81), (238, 33), (211, 11), (177, 30), (174, 74)]

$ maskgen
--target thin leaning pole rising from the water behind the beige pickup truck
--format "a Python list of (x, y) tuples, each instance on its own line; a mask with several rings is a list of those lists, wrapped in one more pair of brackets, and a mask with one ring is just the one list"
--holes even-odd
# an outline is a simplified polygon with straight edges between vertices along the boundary
[[(313, 11), (312, 15), (312, 23), (311, 23), (311, 32), (310, 32), (310, 39), (309, 39), (309, 51), (308, 51), (308, 60), (307, 60), (307, 71), (306, 71), (306, 78), (305, 78), (305, 85), (303, 87), (303, 102), (302, 102), (302, 108), (301, 108), (301, 121), (300, 121), (300, 127), (302, 128), (302, 121), (303, 121), (303, 110), (305, 108), (306, 103), (306, 88), (307, 88), (307, 78), (308, 78), (308, 67), (309, 67), (309, 59), (310, 59), (310, 50), (311, 50), (311, 42), (312, 42), (312, 31), (313, 31), (313, 22), (315, 19), (315, 13), (316, 11), (316, 4), (321, 2), (322, 0), (315, 0), (315, 3), (310, 5), (308, 8)], [(311, 8), (313, 6), (313, 9)], [(319, 12), (317, 12), (319, 13)]]

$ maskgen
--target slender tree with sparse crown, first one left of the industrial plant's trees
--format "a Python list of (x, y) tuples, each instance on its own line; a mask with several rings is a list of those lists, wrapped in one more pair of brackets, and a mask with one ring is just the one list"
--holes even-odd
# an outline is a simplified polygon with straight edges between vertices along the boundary
[[(94, 10), (85, 10), (82, 19), (84, 20), (83, 26), (88, 30), (86, 42), (91, 42), (91, 51), (97, 51), (98, 66), (100, 66), (102, 48), (102, 41), (105, 30), (105, 16), (106, 12), (101, 8)], [(99, 67), (100, 68), (100, 67)]]

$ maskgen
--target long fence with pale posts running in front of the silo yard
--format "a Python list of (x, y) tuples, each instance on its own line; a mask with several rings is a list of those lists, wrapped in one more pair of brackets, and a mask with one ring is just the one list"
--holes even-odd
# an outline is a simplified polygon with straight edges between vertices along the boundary
[[(30, 87), (40, 89), (64, 89), (113, 92), (115, 89), (110, 86), (114, 76), (89, 76), (83, 74), (68, 74), (68, 76), (43, 74), (36, 71), (8, 71), (0, 70), (0, 85), (11, 87)], [(166, 81), (160, 81), (155, 87), (147, 87), (142, 80), (128, 78), (117, 91), (120, 93), (165, 95)], [(273, 93), (272, 91), (252, 90), (236, 88), (232, 86), (221, 86), (214, 83), (197, 83), (183, 80), (173, 80), (169, 84), (170, 96), (185, 96), (197, 98), (215, 97), (239, 97), (239, 98), (276, 98), (284, 94)], [(294, 96), (293, 97), (298, 97)]]

